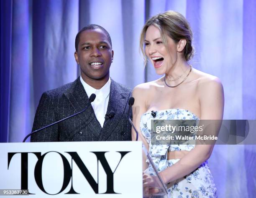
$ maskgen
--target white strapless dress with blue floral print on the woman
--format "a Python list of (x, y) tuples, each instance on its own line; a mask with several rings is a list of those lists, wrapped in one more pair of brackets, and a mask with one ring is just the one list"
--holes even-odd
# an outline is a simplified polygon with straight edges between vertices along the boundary
[[(199, 120), (192, 112), (184, 109), (168, 109), (156, 111), (153, 118), (151, 112), (141, 115), (141, 133), (149, 145), (149, 154), (160, 172), (177, 163), (179, 159), (167, 160), (167, 152), (174, 150), (192, 150), (195, 145), (151, 145), (151, 120)], [(168, 188), (169, 198), (216, 198), (217, 190), (207, 161), (189, 175), (177, 180)]]

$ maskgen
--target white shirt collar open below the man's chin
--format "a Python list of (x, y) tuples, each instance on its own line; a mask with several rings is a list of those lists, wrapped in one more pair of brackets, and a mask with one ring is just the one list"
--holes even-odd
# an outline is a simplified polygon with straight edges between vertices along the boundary
[(90, 97), (90, 95), (92, 95), (92, 93), (95, 93), (96, 96), (99, 95), (101, 97), (107, 98), (110, 93), (110, 83), (111, 83), (110, 78), (108, 79), (108, 82), (100, 89), (95, 89), (95, 88), (91, 87), (90, 85), (88, 85), (87, 83), (85, 83), (84, 80), (82, 79), (82, 76), (80, 76), (80, 81), (81, 81), (88, 97)]

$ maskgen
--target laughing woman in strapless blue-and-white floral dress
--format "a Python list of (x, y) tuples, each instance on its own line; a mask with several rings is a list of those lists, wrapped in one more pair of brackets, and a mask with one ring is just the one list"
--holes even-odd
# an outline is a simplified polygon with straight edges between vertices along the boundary
[[(146, 22), (141, 50), (145, 61), (148, 58), (156, 73), (163, 76), (133, 90), (133, 123), (141, 128), (139, 140), (147, 146), (170, 197), (217, 197), (207, 164), (214, 145), (151, 145), (150, 123), (170, 118), (222, 120), (220, 80), (189, 65), (194, 52), (192, 31), (177, 12), (167, 11)], [(133, 130), (133, 140), (135, 137)], [(144, 187), (153, 185), (153, 177), (143, 178)]]

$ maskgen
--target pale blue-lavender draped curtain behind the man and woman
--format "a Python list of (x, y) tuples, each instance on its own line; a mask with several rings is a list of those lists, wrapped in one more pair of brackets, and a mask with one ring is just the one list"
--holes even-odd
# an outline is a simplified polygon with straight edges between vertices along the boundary
[[(194, 68), (218, 76), (224, 119), (256, 118), (256, 1), (254, 0), (6, 0), (1, 1), (0, 142), (30, 133), (41, 94), (74, 81), (78, 30), (95, 23), (110, 33), (110, 76), (130, 88), (156, 80), (143, 66), (139, 34), (146, 19), (182, 13), (194, 33)], [(219, 197), (256, 193), (256, 146), (215, 145), (210, 168)]]

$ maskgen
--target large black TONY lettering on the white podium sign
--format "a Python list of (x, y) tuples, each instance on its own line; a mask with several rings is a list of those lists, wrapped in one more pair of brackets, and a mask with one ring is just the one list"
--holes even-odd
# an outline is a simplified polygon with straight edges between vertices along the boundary
[[(77, 154), (77, 152), (66, 152), (66, 153), (69, 153), (69, 155), (71, 155), (71, 157), (72, 157), (71, 167), (69, 165), (68, 160), (65, 158), (65, 156), (56, 151), (49, 151), (49, 152), (45, 153), (44, 155), (41, 155), (40, 152), (34, 152), (34, 153), (33, 152), (18, 152), (21, 154), (21, 188), (20, 189), (28, 189), (28, 153), (33, 153), (38, 158), (38, 161), (36, 163), (35, 170), (34, 170), (36, 184), (44, 193), (46, 193), (48, 195), (59, 194), (59, 193), (56, 193), (56, 194), (47, 193), (46, 190), (44, 189), (43, 181), (42, 181), (43, 160), (44, 160), (44, 157), (46, 156), (46, 154), (51, 153), (51, 152), (58, 153), (61, 156), (61, 159), (63, 162), (63, 167), (64, 167), (63, 184), (62, 184), (62, 187), (61, 187), (61, 190), (59, 191), (59, 193), (63, 192), (63, 190), (65, 190), (67, 188), (67, 185), (69, 184), (70, 179), (71, 179), (71, 188), (70, 188), (69, 192), (67, 192), (65, 194), (79, 194), (79, 193), (75, 192), (74, 188), (73, 188), (73, 178), (72, 178), (73, 160), (77, 164), (77, 166), (81, 170), (81, 172), (83, 173), (84, 177), (86, 178), (86, 180), (88, 181), (88, 183), (90, 184), (90, 186), (92, 187), (94, 192), (96, 194), (99, 193), (98, 181), (96, 182), (94, 180), (90, 171), (84, 165), (84, 163), (82, 162), (82, 160), (79, 157), (79, 155)], [(123, 157), (129, 152), (131, 152), (131, 151), (118, 151), (118, 153), (121, 154), (121, 158), (118, 162), (118, 165), (120, 164)], [(120, 193), (116, 193), (114, 191), (114, 173), (115, 173), (115, 170), (118, 168), (118, 165), (116, 166), (115, 170), (112, 172), (110, 165), (108, 164), (108, 161), (105, 158), (105, 153), (107, 153), (107, 151), (100, 151), (100, 152), (95, 151), (92, 153), (94, 153), (97, 157), (97, 163), (98, 163), (97, 172), (98, 172), (98, 174), (99, 174), (99, 161), (100, 161), (100, 163), (102, 164), (102, 167), (107, 175), (107, 190), (105, 193), (102, 193), (102, 194), (120, 194)], [(16, 153), (8, 153), (8, 168), (10, 165), (10, 161), (15, 154)], [(29, 193), (29, 194), (33, 194), (33, 193)]]

